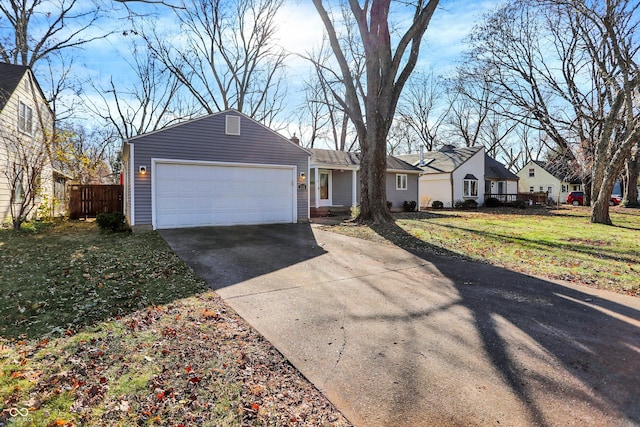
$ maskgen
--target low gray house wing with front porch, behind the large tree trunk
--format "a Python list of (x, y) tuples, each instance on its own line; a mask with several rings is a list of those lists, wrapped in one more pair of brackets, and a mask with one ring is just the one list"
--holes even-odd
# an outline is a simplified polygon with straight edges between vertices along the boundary
[[(309, 176), (311, 216), (329, 210), (344, 210), (360, 202), (359, 153), (312, 148)], [(401, 209), (405, 201), (418, 204), (418, 177), (422, 171), (393, 156), (387, 156), (387, 201)]]

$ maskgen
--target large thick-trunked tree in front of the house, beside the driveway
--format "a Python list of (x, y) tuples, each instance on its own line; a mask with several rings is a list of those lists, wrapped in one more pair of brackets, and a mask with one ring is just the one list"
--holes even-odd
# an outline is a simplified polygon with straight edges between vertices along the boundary
[(334, 93), (336, 100), (356, 128), (360, 142), (360, 215), (362, 222), (393, 221), (386, 204), (386, 148), (387, 135), (402, 90), (413, 72), (422, 37), (429, 26), (438, 1), (394, 3), (396, 13), (406, 13), (408, 28), (394, 37), (391, 46), (389, 15), (390, 0), (349, 0), (351, 13), (357, 23), (365, 63), (366, 80), (361, 91), (354, 83), (352, 68), (345, 57), (345, 48), (330, 11), (322, 0), (313, 0), (327, 30), (331, 49), (340, 69), (344, 96)]

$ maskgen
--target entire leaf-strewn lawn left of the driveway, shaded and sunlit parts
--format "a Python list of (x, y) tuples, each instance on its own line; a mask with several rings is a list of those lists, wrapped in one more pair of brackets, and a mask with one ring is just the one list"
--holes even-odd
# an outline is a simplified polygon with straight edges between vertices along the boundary
[(155, 232), (0, 230), (0, 426), (348, 421)]

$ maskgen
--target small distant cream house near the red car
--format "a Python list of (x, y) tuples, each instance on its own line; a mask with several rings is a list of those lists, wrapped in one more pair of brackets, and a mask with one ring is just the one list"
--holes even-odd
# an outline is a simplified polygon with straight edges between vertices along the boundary
[(583, 191), (582, 181), (566, 166), (531, 160), (516, 174), (520, 193), (548, 192), (553, 203), (564, 203), (572, 191)]

